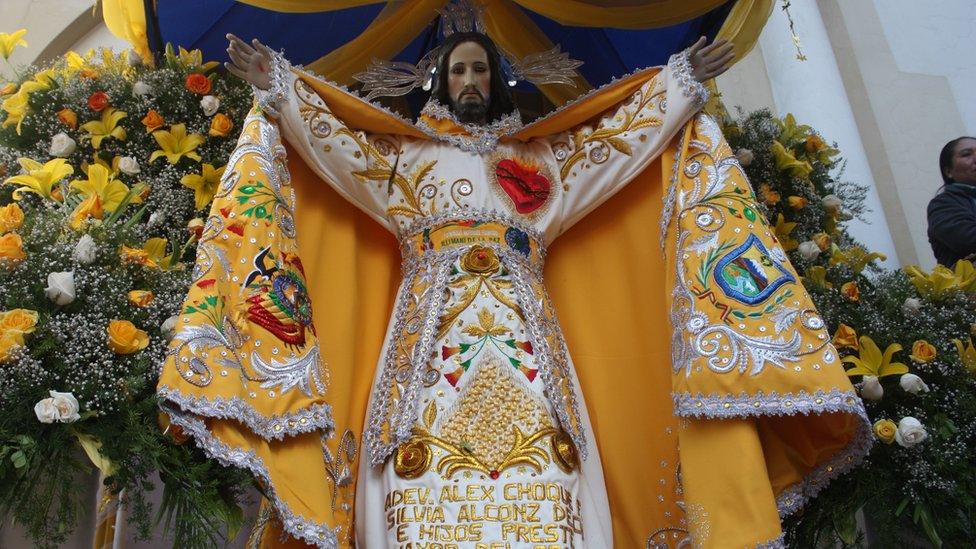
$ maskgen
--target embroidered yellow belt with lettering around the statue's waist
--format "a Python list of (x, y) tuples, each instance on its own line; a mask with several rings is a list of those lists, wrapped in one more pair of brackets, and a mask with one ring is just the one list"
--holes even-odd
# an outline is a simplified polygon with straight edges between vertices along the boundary
[(541, 273), (546, 255), (545, 246), (528, 232), (498, 221), (477, 218), (457, 219), (420, 230), (400, 239), (400, 253), (405, 264), (412, 264), (431, 252), (481, 245), (511, 250), (514, 257), (528, 262)]

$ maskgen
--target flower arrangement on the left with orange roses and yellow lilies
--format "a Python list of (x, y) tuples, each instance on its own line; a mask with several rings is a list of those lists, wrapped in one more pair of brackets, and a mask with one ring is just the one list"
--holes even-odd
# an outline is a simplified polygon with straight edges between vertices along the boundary
[[(0, 55), (23, 34), (0, 34)], [(214, 66), (71, 52), (0, 87), (0, 514), (38, 546), (71, 533), (92, 464), (143, 536), (162, 517), (175, 546), (209, 547), (241, 525), (250, 478), (180, 444), (155, 397), (251, 105)]]

